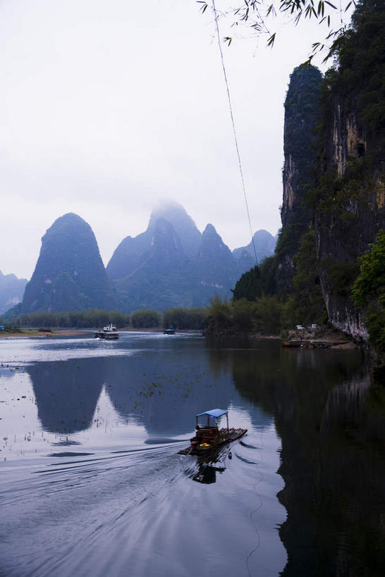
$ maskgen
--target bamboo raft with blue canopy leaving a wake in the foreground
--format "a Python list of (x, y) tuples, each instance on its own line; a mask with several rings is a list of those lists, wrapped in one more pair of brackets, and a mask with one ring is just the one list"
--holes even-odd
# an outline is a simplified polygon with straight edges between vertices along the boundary
[[(226, 415), (227, 426), (219, 428), (219, 419)], [(195, 437), (190, 440), (190, 447), (179, 451), (183, 455), (203, 455), (210, 454), (221, 445), (239, 439), (247, 429), (228, 428), (228, 411), (224, 409), (211, 409), (204, 411), (195, 417)]]

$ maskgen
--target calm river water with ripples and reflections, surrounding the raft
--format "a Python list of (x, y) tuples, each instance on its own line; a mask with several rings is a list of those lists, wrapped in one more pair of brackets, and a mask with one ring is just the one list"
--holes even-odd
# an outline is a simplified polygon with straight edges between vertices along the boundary
[[(0, 361), (2, 577), (384, 575), (385, 390), (359, 352), (122, 333)], [(178, 454), (216, 407), (247, 435)]]

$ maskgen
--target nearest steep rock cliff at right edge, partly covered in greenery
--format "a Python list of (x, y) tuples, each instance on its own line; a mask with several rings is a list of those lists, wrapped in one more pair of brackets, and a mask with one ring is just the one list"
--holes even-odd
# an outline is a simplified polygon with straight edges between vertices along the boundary
[(385, 226), (384, 4), (362, 2), (326, 74), (315, 211), (319, 275), (329, 320), (355, 340), (367, 329), (350, 300), (358, 258)]

